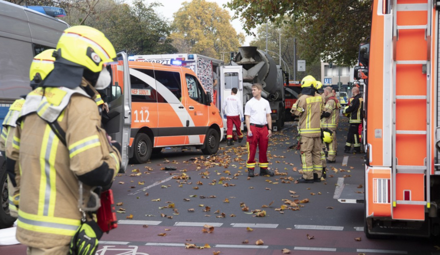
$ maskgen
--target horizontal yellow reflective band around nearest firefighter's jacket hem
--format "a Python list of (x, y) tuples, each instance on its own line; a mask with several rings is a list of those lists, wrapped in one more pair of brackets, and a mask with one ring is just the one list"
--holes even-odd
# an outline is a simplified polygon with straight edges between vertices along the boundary
[(37, 216), (21, 210), (18, 212), (17, 225), (35, 232), (74, 236), (80, 224), (80, 220)]

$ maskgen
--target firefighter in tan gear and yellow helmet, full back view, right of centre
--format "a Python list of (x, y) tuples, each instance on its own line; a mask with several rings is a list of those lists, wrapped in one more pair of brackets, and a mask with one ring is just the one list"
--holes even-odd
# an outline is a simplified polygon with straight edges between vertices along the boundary
[(301, 81), (302, 96), (290, 111), (299, 116), (298, 133), (300, 135), (300, 153), (302, 162), (302, 178), (298, 183), (321, 182), (323, 171), (321, 160), (321, 112), (323, 100), (316, 94), (316, 79), (311, 75)]

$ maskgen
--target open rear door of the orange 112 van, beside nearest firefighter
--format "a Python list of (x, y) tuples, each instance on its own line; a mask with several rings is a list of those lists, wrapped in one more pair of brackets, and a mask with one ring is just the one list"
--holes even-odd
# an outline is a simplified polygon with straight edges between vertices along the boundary
[(129, 162), (129, 141), (132, 124), (132, 98), (129, 62), (126, 52), (117, 53), (118, 63), (111, 65), (112, 86), (105, 89), (109, 112), (102, 113), (105, 130), (113, 140), (121, 144), (121, 168), (125, 172)]

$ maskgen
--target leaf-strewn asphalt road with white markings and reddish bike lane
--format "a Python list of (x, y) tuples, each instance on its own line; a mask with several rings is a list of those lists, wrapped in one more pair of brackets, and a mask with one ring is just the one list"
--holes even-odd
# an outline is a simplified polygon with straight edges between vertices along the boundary
[[(270, 168), (279, 173), (274, 177), (247, 178), (245, 140), (222, 142), (210, 157), (194, 148), (166, 148), (146, 164), (130, 165), (112, 187), (121, 203), (118, 228), (104, 234), (98, 254), (435, 254), (437, 244), (429, 239), (367, 239), (363, 204), (333, 198), (338, 180), (356, 187), (364, 180), (363, 155), (343, 153), (346, 119), (336, 163), (321, 183), (295, 183), (299, 152), (288, 148), (295, 130), (296, 122), (287, 123), (269, 142)], [(189, 244), (197, 247), (185, 248)], [(23, 245), (0, 247), (0, 254), (19, 252)]]

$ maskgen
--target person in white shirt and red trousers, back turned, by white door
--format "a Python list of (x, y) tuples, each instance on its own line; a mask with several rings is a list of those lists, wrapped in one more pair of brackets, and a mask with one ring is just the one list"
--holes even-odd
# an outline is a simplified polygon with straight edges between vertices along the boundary
[(223, 105), (223, 113), (226, 116), (226, 139), (228, 141), (228, 146), (232, 145), (233, 134), (232, 129), (235, 125), (235, 131), (238, 135), (238, 142), (243, 139), (243, 133), (241, 132), (241, 122), (244, 120), (243, 115), (243, 105), (237, 95), (237, 88), (232, 88), (231, 95), (226, 98)]

